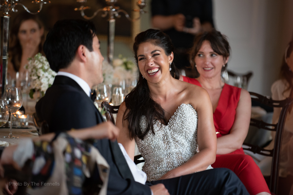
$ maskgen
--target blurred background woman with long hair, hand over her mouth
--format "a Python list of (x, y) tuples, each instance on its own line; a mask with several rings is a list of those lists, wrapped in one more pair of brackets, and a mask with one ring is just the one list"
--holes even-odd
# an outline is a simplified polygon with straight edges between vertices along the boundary
[[(44, 25), (37, 15), (22, 13), (14, 19), (8, 50), (8, 74), (11, 79), (20, 81), (25, 76), (28, 58), (43, 53), (45, 42)], [(17, 74), (18, 73), (18, 74)], [(20, 83), (16, 83), (20, 87)]]

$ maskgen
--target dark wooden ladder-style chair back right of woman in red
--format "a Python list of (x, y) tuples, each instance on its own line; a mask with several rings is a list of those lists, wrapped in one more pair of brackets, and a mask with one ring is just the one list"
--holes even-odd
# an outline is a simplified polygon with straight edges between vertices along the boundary
[(285, 100), (271, 100), (263, 95), (259, 95), (257, 93), (249, 92), (251, 97), (251, 100), (254, 100), (256, 102), (259, 102), (263, 105), (269, 106), (269, 107), (281, 107), (282, 111), (279, 117), (279, 121), (277, 124), (269, 124), (265, 123), (260, 120), (251, 119), (250, 125), (255, 126), (259, 129), (265, 129), (270, 131), (276, 132), (275, 137), (275, 146), (272, 150), (266, 150), (262, 147), (255, 146), (248, 143), (243, 143), (246, 147), (243, 147), (244, 150), (249, 150), (253, 152), (254, 154), (261, 154), (264, 156), (272, 156), (272, 167), (271, 167), (271, 175), (270, 175), (270, 182), (269, 182), (269, 189), (271, 192), (276, 194), (277, 191), (277, 185), (278, 185), (278, 178), (279, 178), (279, 166), (280, 166), (280, 153), (281, 153), (281, 143), (282, 143), (282, 136), (283, 136), (283, 130), (285, 126), (285, 120), (287, 116), (287, 111), (289, 106), (291, 105), (293, 99), (287, 98)]

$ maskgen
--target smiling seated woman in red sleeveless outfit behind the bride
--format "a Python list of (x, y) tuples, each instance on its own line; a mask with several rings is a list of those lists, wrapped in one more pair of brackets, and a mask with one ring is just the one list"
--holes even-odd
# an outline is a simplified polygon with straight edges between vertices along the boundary
[(200, 76), (196, 79), (182, 76), (180, 80), (205, 88), (211, 98), (217, 133), (217, 156), (212, 167), (234, 171), (251, 195), (270, 194), (260, 169), (242, 149), (250, 123), (251, 97), (248, 91), (227, 85), (221, 79), (229, 50), (226, 37), (218, 31), (198, 35), (190, 62)]

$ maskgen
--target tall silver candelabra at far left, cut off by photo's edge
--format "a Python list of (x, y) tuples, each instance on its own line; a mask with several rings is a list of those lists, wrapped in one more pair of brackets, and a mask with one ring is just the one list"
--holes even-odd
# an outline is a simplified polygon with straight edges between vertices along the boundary
[(7, 65), (8, 65), (8, 42), (9, 42), (9, 13), (17, 12), (15, 6), (22, 6), (25, 11), (30, 14), (37, 14), (42, 10), (43, 4), (50, 3), (50, 1), (44, 0), (35, 0), (32, 3), (39, 4), (39, 10), (37, 12), (30, 12), (27, 7), (25, 7), (22, 3), (22, 0), (0, 0), (0, 10), (3, 11), (3, 15), (1, 16), (1, 52), (2, 52), (2, 89), (1, 96), (4, 94), (4, 90), (6, 89), (6, 79), (7, 79)]

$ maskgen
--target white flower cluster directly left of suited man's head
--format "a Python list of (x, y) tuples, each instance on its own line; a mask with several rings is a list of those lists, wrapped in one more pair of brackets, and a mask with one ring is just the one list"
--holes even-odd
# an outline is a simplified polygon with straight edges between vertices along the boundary
[(49, 65), (45, 56), (38, 53), (33, 58), (28, 58), (26, 69), (31, 78), (30, 81), (30, 97), (33, 98), (35, 91), (40, 91), (42, 95), (53, 84), (56, 72), (54, 72)]

